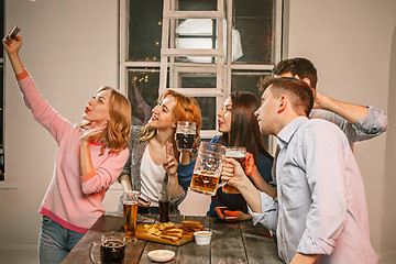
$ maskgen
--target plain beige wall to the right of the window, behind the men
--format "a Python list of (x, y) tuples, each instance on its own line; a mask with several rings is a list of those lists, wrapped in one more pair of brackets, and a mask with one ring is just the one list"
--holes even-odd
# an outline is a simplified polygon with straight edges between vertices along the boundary
[[(288, 54), (289, 57), (308, 57), (315, 63), (319, 74), (318, 90), (324, 95), (388, 111), (389, 79), (396, 74), (395, 67), (389, 72), (395, 24), (394, 0), (292, 0)], [(388, 114), (391, 118), (395, 114), (394, 108)], [(392, 123), (388, 134), (358, 143), (354, 150), (366, 188), (371, 240), (383, 263), (385, 257), (394, 260), (396, 256), (396, 237), (392, 231), (395, 209), (389, 210), (395, 207), (395, 199), (392, 202), (384, 196), (385, 186), (393, 193), (396, 187), (389, 177), (394, 176), (394, 170), (385, 172), (385, 143), (391, 134), (391, 151), (396, 146)], [(393, 157), (387, 156), (389, 164)], [(388, 207), (383, 206), (385, 201)], [(382, 229), (382, 224), (391, 230)]]

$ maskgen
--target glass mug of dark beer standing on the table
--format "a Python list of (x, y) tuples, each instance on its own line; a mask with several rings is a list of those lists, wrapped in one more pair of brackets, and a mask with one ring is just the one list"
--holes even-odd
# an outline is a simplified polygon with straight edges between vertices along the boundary
[[(94, 248), (100, 245), (100, 262), (94, 256)], [(100, 235), (100, 242), (92, 242), (89, 246), (89, 260), (100, 264), (121, 264), (125, 257), (125, 234), (119, 232), (108, 232)]]

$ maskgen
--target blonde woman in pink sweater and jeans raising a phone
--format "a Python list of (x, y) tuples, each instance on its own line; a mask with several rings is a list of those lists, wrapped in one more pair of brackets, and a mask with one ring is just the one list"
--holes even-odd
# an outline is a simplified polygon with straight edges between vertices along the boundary
[(26, 107), (57, 142), (53, 179), (40, 208), (40, 263), (59, 263), (106, 211), (102, 199), (128, 155), (131, 105), (103, 87), (88, 101), (84, 121), (63, 119), (40, 94), (19, 57), (22, 38), (3, 41)]

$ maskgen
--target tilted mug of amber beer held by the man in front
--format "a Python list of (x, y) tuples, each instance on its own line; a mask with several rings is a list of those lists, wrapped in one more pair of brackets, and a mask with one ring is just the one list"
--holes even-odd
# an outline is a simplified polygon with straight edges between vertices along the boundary
[(226, 146), (201, 142), (194, 167), (190, 189), (205, 195), (216, 195), (220, 184), (221, 166), (224, 160)]

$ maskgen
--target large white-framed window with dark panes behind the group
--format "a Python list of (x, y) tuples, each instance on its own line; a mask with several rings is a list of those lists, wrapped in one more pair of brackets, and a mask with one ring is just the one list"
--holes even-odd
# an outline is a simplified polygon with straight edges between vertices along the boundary
[[(168, 12), (175, 18), (168, 22), (163, 20), (166, 2), (170, 11), (183, 11)], [(223, 100), (235, 90), (260, 97), (258, 79), (280, 59), (282, 4), (283, 0), (122, 0), (120, 87), (132, 102), (134, 123), (144, 123), (158, 94), (172, 88), (197, 99), (201, 136), (218, 134), (217, 112)]]

